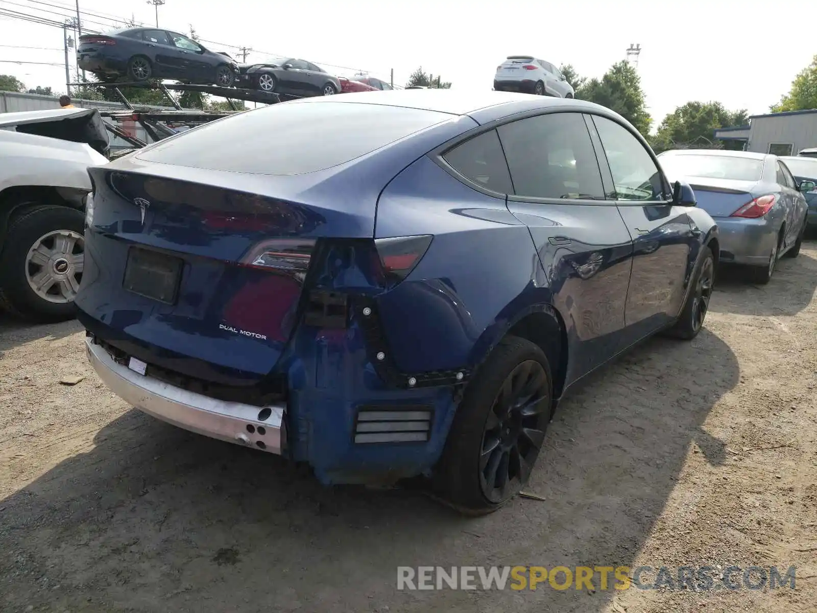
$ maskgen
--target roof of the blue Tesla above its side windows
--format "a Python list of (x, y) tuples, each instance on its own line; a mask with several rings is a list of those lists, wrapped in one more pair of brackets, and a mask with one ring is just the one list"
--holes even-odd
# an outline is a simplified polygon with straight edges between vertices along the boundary
[(493, 110), (481, 113), (479, 123), (501, 119), (504, 116), (522, 113), (526, 110), (547, 109), (551, 107), (571, 106), (577, 111), (596, 110), (611, 114), (605, 107), (587, 101), (563, 100), (549, 96), (534, 96), (516, 92), (493, 92), (490, 90), (467, 89), (400, 89), (387, 92), (355, 92), (343, 96), (313, 96), (285, 104), (323, 104), (344, 102), (346, 104), (368, 104), (402, 106), (409, 109), (433, 110), (452, 115), (467, 115), (477, 111)]

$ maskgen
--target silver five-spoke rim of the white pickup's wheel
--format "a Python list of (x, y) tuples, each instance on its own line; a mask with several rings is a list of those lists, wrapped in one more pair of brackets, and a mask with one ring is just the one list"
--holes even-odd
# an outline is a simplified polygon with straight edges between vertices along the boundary
[(83, 278), (85, 241), (71, 230), (42, 235), (25, 258), (25, 275), (39, 298), (65, 304), (74, 302)]

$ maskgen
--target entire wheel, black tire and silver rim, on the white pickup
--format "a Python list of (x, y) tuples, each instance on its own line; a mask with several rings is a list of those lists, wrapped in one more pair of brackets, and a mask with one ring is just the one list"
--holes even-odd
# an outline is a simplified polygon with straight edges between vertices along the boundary
[[(11, 221), (0, 256), (0, 304), (40, 322), (74, 318), (84, 264), (80, 211), (57, 205), (25, 209)], [(34, 285), (42, 282), (40, 291)]]

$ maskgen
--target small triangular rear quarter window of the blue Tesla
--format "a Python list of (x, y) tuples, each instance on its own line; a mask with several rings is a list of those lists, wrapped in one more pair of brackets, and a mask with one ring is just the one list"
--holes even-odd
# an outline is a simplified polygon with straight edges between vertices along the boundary
[(443, 159), (463, 177), (486, 190), (512, 194), (511, 177), (496, 130), (457, 145)]

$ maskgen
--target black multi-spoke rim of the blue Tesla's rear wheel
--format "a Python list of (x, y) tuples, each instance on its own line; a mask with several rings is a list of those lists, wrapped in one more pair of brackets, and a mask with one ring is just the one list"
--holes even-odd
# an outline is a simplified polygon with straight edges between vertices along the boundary
[(547, 374), (537, 361), (525, 360), (502, 383), (485, 421), (480, 486), (490, 502), (502, 502), (528, 480), (545, 439), (549, 409)]

